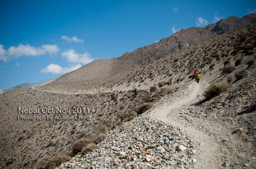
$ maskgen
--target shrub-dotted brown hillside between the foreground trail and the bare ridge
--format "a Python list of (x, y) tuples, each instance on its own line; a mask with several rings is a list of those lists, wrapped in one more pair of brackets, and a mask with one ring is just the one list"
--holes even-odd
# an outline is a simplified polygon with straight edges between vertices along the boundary
[[(87, 137), (93, 139), (97, 134), (106, 132), (105, 129), (115, 128), (134, 118), (141, 104), (153, 104), (164, 94), (174, 92), (176, 87), (191, 80), (190, 75), (196, 69), (201, 73), (201, 79), (208, 83), (230, 79), (226, 73), (221, 73), (220, 68), (231, 65), (232, 73), (247, 68), (245, 63), (255, 59), (255, 32), (256, 24), (248, 25), (205, 39), (133, 71), (109, 77), (35, 89), (19, 88), (1, 94), (1, 167), (36, 168), (55, 155), (70, 154), (73, 142)], [(238, 59), (240, 64), (234, 66)], [(255, 63), (246, 70), (255, 70)], [(165, 82), (170, 80), (173, 85), (167, 87)], [(159, 88), (161, 82), (167, 89)], [(134, 85), (137, 90), (132, 90)], [(150, 91), (150, 87), (155, 85), (158, 91)], [(89, 107), (89, 113), (85, 114), (91, 119), (18, 120), (19, 107), (71, 110)], [(42, 115), (46, 116), (33, 114)], [(55, 117), (52, 113), (47, 115)]]

